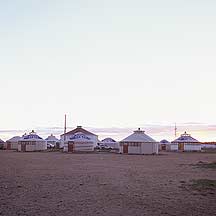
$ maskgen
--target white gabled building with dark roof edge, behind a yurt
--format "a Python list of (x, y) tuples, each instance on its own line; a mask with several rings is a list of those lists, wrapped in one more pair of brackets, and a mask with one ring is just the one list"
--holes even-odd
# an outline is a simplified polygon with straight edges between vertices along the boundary
[[(90, 138), (93, 143), (94, 143), (94, 147), (97, 146), (97, 143), (99, 142), (98, 140), (98, 135), (91, 133), (90, 131), (85, 130), (84, 128), (82, 128), (82, 126), (77, 126), (77, 128), (75, 128), (72, 131), (69, 131), (67, 133), (65, 133), (65, 141), (69, 141), (71, 137), (73, 137), (76, 133), (82, 133), (85, 136), (87, 136), (88, 138)], [(64, 143), (64, 134), (62, 134), (60, 136), (61, 138), (61, 142)]]

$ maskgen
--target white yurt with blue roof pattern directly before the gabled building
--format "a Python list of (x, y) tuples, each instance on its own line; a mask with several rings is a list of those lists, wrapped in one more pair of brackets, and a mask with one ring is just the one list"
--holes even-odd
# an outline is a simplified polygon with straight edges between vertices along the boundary
[(65, 142), (64, 152), (92, 152), (94, 142), (85, 134), (78, 132)]

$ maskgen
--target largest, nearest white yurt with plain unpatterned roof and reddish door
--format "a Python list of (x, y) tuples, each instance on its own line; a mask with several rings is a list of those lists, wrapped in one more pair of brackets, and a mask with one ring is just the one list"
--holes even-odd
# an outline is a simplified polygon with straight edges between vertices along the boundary
[(158, 154), (158, 142), (138, 128), (133, 134), (120, 141), (119, 152), (126, 154)]

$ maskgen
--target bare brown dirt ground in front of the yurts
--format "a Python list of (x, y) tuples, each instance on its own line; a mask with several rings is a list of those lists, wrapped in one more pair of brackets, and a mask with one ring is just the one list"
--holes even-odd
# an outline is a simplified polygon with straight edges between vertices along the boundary
[(216, 215), (216, 192), (184, 187), (216, 179), (216, 154), (67, 154), (0, 151), (0, 215)]

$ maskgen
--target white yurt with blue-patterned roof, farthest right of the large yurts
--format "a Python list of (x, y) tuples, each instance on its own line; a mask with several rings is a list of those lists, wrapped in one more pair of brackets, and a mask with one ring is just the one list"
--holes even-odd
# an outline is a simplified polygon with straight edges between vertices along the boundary
[(171, 142), (178, 151), (201, 151), (201, 143), (185, 131), (180, 137)]

